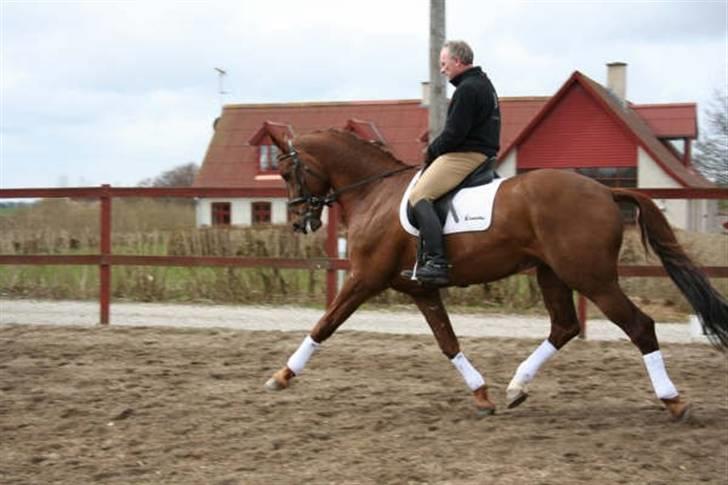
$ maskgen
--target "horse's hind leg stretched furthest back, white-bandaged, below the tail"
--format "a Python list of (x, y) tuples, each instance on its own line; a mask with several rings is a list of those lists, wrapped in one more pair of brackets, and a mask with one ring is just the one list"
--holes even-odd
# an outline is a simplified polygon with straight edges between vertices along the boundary
[(681, 399), (667, 374), (657, 342), (654, 320), (637, 308), (616, 282), (608, 285), (605, 290), (585, 294), (640, 350), (655, 394), (672, 417), (676, 420), (685, 419), (690, 406)]

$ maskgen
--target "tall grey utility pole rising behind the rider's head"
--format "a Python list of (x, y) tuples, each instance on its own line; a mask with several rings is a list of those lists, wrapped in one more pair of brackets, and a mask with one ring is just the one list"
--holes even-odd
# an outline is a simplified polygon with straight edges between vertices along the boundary
[(430, 141), (442, 132), (447, 115), (447, 84), (440, 74), (440, 50), (444, 43), (445, 0), (430, 0)]

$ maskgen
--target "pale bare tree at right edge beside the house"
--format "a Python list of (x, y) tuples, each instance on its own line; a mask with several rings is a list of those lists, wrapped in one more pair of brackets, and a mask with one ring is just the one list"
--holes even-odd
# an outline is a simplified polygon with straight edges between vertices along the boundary
[(728, 187), (728, 95), (715, 92), (705, 110), (708, 129), (695, 144), (695, 166), (706, 178)]

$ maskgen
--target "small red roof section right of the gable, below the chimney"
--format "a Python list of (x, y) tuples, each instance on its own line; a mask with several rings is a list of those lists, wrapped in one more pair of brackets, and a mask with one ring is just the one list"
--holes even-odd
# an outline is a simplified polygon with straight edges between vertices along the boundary
[(698, 115), (695, 103), (631, 104), (657, 138), (698, 137)]

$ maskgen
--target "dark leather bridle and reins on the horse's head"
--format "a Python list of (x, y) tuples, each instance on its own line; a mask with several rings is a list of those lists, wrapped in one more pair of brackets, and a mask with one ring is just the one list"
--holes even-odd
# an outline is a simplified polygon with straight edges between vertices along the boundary
[(341, 194), (361, 187), (363, 185), (369, 184), (371, 182), (391, 177), (392, 175), (396, 175), (406, 170), (412, 170), (417, 168), (414, 165), (396, 168), (394, 170), (366, 177), (362, 180), (359, 180), (358, 182), (354, 182), (353, 184), (347, 185), (346, 187), (342, 187), (339, 190), (331, 190), (326, 195), (320, 196), (313, 194), (308, 188), (305, 178), (306, 174), (309, 174), (314, 178), (317, 178), (326, 183), (328, 183), (329, 180), (324, 175), (320, 174), (316, 170), (313, 170), (311, 167), (301, 161), (301, 158), (298, 156), (298, 151), (293, 146), (293, 141), (291, 140), (288, 140), (288, 153), (278, 155), (278, 161), (280, 162), (289, 158), (293, 163), (293, 181), (295, 183), (294, 188), (298, 195), (289, 199), (287, 205), (289, 209), (305, 205), (303, 212), (296, 211), (297, 215), (303, 217), (303, 222), (294, 223), (293, 225), (294, 229), (299, 230), (304, 234), (307, 232), (309, 225), (312, 231), (315, 231), (316, 229), (321, 227), (321, 219), (319, 218), (320, 211), (324, 207), (331, 207), (331, 205), (337, 201)]

